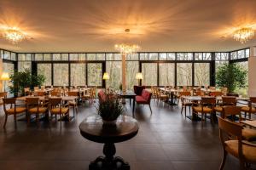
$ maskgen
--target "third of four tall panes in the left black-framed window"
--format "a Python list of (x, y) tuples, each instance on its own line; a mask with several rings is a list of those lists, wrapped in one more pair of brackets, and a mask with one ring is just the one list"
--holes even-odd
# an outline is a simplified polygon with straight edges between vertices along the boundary
[(86, 84), (86, 66), (84, 63), (70, 64), (71, 86), (84, 86)]

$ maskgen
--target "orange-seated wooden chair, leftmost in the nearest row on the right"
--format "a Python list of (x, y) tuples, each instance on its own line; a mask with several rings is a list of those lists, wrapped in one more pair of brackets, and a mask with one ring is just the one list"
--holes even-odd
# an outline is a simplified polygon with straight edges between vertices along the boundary
[(192, 111), (194, 114), (199, 115), (201, 114), (201, 122), (207, 117), (207, 114), (211, 116), (212, 119), (212, 113), (214, 113), (214, 107), (216, 105), (216, 99), (214, 97), (201, 97), (201, 105), (194, 106), (192, 105)]

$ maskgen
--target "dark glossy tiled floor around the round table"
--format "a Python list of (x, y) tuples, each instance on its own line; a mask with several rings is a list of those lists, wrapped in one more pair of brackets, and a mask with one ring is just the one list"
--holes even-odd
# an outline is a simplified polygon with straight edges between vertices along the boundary
[[(127, 114), (131, 115), (129, 103)], [(148, 105), (138, 105), (136, 118), (139, 133), (134, 139), (116, 144), (117, 156), (129, 161), (131, 169), (218, 169), (222, 148), (218, 139), (218, 124), (208, 120), (191, 122), (180, 114), (177, 106), (159, 106), (152, 101), (153, 114)], [(79, 123), (84, 117), (96, 114), (93, 105), (80, 105), (79, 114), (72, 122), (18, 122), (9, 116), (3, 130), (3, 109), (0, 128), (0, 169), (88, 169), (90, 161), (102, 155), (102, 144), (84, 139)], [(236, 158), (228, 156), (225, 169), (238, 169)]]

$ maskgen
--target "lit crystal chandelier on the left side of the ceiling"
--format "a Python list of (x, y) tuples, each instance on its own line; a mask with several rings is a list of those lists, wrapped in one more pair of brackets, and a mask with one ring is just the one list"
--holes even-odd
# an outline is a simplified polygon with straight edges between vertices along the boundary
[(6, 29), (3, 32), (3, 37), (13, 44), (17, 44), (26, 39), (25, 34), (16, 27)]

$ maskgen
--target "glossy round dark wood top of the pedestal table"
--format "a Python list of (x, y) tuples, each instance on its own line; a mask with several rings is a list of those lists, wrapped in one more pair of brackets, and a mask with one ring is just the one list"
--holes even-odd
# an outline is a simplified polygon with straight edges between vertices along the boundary
[(85, 139), (97, 143), (118, 143), (137, 135), (138, 123), (131, 116), (119, 116), (115, 126), (103, 126), (101, 116), (88, 116), (79, 125)]

